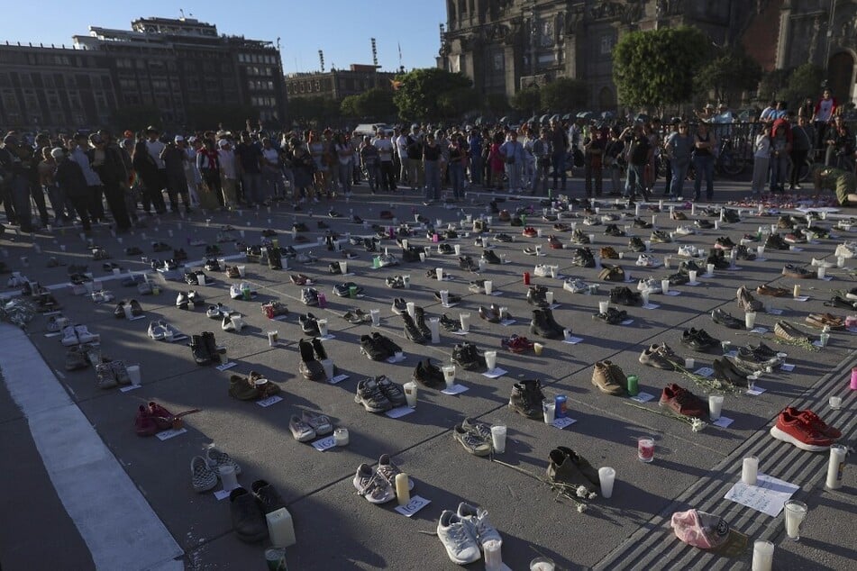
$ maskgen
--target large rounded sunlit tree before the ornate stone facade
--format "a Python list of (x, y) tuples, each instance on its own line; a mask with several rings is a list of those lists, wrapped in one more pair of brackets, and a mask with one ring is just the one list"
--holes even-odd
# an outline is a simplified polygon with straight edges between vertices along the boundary
[(710, 45), (705, 33), (688, 26), (626, 34), (613, 50), (619, 101), (659, 108), (688, 101)]

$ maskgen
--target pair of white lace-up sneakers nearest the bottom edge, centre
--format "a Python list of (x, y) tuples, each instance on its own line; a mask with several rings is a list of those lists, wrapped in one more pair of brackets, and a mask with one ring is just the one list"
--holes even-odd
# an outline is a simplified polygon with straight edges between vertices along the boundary
[(482, 557), (479, 548), (488, 541), (500, 542), (500, 534), (488, 522), (488, 511), (460, 503), (458, 512), (444, 510), (437, 521), (437, 537), (452, 563), (467, 565)]

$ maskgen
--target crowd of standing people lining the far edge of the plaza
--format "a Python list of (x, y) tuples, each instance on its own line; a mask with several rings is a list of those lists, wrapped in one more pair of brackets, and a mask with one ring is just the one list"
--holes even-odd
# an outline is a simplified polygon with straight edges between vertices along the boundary
[[(773, 101), (753, 119), (746, 135), (752, 138), (752, 195), (766, 186), (771, 193), (784, 192), (787, 184), (800, 190), (807, 157), (853, 172), (854, 135), (829, 90), (797, 110)], [(332, 129), (266, 133), (250, 122), (234, 135), (221, 129), (187, 137), (164, 136), (153, 126), (119, 138), (100, 130), (54, 137), (42, 132), (27, 140), (9, 131), (0, 146), (0, 193), (7, 222), (25, 232), (38, 222), (75, 220), (89, 231), (109, 213), (121, 233), (144, 223), (145, 214), (166, 213), (168, 204), (173, 213), (269, 200), (290, 200), (300, 209), (333, 195), (351, 196), (363, 181), (373, 194), (410, 189), (426, 204), (461, 200), (470, 185), (548, 195), (549, 189), (567, 191), (572, 168), (582, 169), (588, 197), (602, 195), (607, 178), (608, 194), (629, 200), (648, 199), (661, 170), (662, 195), (684, 199), (692, 168), (692, 198), (702, 198), (704, 184), (710, 201), (721, 140), (737, 136), (734, 120), (725, 104), (708, 104), (693, 118), (675, 117), (665, 125), (638, 115), (625, 127), (582, 117), (563, 122), (554, 115), (541, 124), (414, 123), (362, 136)], [(442, 196), (444, 189), (449, 192)]]

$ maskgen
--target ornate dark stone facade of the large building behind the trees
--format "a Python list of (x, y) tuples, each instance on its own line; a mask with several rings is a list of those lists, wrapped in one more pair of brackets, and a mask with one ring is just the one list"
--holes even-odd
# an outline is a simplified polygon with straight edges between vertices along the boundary
[(447, 0), (438, 66), (464, 73), (485, 95), (511, 96), (557, 77), (584, 79), (591, 108), (608, 110), (616, 106), (612, 52), (622, 35), (693, 25), (717, 46), (742, 43), (767, 69), (806, 62), (809, 40), (809, 59), (826, 66), (837, 93), (851, 100), (855, 6), (857, 0)]

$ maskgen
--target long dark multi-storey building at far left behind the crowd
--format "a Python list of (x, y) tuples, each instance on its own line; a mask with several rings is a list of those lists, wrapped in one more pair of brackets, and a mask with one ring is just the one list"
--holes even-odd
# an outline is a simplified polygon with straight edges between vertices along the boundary
[[(201, 109), (240, 105), (286, 117), (278, 47), (227, 36), (194, 18), (140, 18), (130, 30), (90, 26), (72, 45), (0, 44), (0, 125), (68, 130), (109, 125), (116, 109), (157, 108), (165, 127)], [(121, 127), (121, 125), (118, 125)]]

